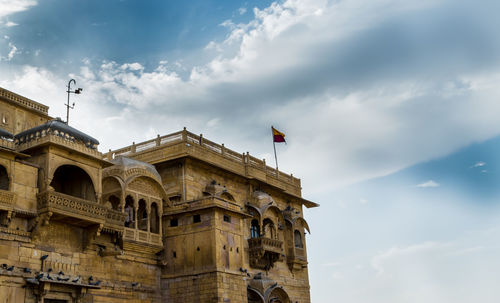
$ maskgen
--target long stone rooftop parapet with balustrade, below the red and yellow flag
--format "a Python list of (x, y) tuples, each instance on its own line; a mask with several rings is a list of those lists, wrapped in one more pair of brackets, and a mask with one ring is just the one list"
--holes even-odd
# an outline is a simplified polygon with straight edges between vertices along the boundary
[(104, 154), (104, 159), (112, 160), (118, 156), (132, 157), (153, 164), (190, 156), (236, 174), (265, 181), (295, 196), (301, 195), (300, 179), (268, 166), (265, 160), (257, 159), (248, 152), (235, 152), (226, 148), (224, 144), (214, 143), (205, 139), (203, 135), (195, 135), (186, 129), (145, 142), (133, 143), (114, 151), (110, 150)]

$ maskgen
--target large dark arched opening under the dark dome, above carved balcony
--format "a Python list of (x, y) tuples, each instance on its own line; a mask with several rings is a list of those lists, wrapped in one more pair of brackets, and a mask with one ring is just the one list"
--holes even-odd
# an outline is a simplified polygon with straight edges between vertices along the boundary
[(92, 179), (78, 166), (59, 166), (54, 172), (50, 186), (52, 186), (55, 191), (66, 195), (94, 202), (96, 201)]

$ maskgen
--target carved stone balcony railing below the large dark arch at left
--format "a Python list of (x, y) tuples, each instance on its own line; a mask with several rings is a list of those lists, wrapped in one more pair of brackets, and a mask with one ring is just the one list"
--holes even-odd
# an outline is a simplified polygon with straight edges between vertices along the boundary
[(45, 191), (38, 194), (38, 213), (49, 214), (50, 220), (86, 227), (104, 224), (108, 209), (96, 202), (55, 191)]

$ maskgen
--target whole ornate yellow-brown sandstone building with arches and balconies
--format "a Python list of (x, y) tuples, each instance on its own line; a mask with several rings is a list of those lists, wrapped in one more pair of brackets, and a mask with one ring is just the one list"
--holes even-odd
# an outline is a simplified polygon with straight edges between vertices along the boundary
[(186, 129), (100, 153), (0, 88), (0, 302), (310, 302), (300, 180)]

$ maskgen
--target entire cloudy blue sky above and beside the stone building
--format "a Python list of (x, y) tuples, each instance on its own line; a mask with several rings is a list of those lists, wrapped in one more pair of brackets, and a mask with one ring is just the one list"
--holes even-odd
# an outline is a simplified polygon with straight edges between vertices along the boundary
[(500, 2), (0, 0), (0, 87), (100, 150), (182, 127), (302, 180), (312, 302), (498, 302)]

